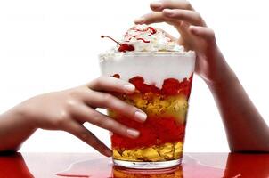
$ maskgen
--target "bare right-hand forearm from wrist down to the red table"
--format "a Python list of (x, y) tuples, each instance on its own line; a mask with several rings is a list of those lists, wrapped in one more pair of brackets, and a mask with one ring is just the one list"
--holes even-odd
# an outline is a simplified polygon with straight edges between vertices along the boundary
[(269, 151), (269, 129), (240, 81), (226, 64), (221, 81), (207, 82), (224, 122), (231, 151)]

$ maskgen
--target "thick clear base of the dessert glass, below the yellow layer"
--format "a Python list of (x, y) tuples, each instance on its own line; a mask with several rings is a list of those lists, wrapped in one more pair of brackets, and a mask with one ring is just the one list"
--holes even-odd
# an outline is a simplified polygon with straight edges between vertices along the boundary
[(138, 162), (138, 161), (123, 161), (118, 159), (113, 159), (113, 163), (116, 166), (123, 166), (126, 168), (133, 169), (162, 169), (173, 166), (178, 166), (182, 162), (182, 159), (175, 159), (171, 161), (158, 161), (158, 162)]

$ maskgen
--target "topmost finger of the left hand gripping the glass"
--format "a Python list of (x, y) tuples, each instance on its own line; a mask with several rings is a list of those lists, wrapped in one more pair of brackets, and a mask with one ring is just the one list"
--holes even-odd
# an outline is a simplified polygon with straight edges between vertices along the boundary
[(94, 79), (88, 87), (96, 91), (134, 93), (135, 85), (116, 77), (98, 77)]

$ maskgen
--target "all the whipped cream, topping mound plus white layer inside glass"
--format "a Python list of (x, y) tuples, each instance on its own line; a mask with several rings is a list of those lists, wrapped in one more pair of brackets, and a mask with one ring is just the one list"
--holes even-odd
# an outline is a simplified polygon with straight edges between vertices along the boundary
[(183, 46), (158, 28), (136, 25), (128, 29), (119, 42), (115, 42), (118, 46), (99, 55), (104, 76), (119, 74), (126, 81), (140, 76), (145, 84), (161, 88), (167, 78), (183, 81), (193, 74), (195, 53), (185, 52)]

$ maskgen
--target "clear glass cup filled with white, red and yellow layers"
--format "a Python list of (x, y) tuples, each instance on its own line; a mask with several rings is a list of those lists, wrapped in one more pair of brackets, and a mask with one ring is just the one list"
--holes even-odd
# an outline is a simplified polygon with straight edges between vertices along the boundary
[(147, 120), (108, 110), (119, 123), (140, 131), (136, 139), (110, 133), (116, 166), (137, 169), (167, 168), (181, 164), (195, 53), (121, 53), (102, 57), (103, 76), (135, 85), (135, 93), (113, 93), (142, 109)]

